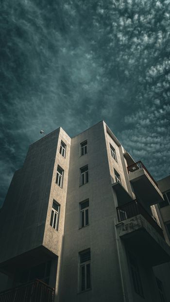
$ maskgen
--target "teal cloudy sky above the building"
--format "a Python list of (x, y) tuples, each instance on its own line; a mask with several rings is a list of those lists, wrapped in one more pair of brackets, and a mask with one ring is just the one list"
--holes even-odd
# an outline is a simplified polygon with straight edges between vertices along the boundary
[(102, 119), (170, 174), (170, 0), (1, 1), (0, 204), (39, 130)]

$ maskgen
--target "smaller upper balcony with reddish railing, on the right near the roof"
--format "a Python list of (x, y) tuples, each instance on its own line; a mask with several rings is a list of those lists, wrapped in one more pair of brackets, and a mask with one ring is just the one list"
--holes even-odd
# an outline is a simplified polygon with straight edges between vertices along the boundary
[(149, 206), (164, 201), (157, 183), (141, 161), (127, 167), (127, 170), (137, 197), (145, 200)]

